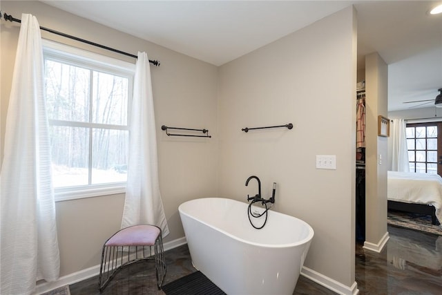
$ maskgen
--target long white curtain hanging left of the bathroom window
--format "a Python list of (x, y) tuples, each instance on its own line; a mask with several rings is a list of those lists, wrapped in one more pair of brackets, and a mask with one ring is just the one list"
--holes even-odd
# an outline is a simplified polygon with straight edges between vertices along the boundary
[(59, 277), (39, 23), (21, 15), (1, 166), (0, 294), (30, 294)]

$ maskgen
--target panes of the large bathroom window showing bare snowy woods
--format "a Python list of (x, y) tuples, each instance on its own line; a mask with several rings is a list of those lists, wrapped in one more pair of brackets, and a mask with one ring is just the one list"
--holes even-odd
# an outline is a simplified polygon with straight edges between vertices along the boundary
[(125, 182), (128, 78), (45, 60), (55, 187)]

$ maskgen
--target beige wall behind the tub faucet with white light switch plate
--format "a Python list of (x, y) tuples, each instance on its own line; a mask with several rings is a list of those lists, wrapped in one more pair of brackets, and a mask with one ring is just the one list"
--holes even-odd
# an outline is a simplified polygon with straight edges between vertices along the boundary
[[(220, 196), (245, 201), (256, 185), (277, 211), (315, 231), (305, 266), (354, 283), (356, 15), (353, 8), (220, 67)], [(294, 129), (241, 131), (293, 123)], [(336, 155), (336, 170), (316, 169)], [(289, 231), (290, 229), (287, 229)]]

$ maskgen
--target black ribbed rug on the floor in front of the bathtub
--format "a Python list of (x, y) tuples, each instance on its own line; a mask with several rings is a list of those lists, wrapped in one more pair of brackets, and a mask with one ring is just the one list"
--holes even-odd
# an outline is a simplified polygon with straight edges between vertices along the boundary
[(209, 280), (202, 272), (193, 272), (178, 278), (162, 287), (166, 295), (225, 295), (220, 288)]

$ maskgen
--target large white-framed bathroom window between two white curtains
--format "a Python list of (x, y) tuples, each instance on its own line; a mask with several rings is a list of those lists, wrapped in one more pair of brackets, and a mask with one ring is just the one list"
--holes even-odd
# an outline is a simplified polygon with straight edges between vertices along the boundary
[(44, 42), (56, 199), (124, 192), (133, 64)]

